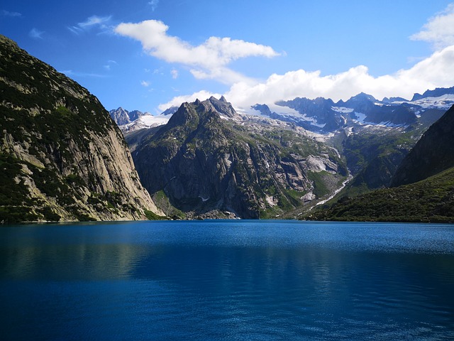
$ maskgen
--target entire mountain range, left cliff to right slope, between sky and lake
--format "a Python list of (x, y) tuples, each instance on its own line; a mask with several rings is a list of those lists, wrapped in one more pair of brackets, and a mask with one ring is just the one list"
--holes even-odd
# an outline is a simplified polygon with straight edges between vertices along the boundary
[(12, 40), (0, 48), (3, 222), (452, 220), (454, 88), (107, 112)]

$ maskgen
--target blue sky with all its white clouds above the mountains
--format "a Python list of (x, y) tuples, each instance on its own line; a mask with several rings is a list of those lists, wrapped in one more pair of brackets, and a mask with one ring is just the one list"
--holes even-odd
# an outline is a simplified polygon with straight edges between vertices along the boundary
[(451, 1), (3, 0), (0, 33), (106, 109), (454, 86)]

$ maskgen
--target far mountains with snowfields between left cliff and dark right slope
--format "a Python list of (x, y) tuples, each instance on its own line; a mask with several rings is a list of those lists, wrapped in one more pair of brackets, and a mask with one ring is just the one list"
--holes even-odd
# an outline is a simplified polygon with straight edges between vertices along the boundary
[(453, 92), (428, 91), (410, 101), (367, 94), (345, 103), (295, 99), (270, 105), (274, 112), (257, 104), (249, 114), (211, 97), (155, 116), (170, 117), (162, 127), (120, 126), (145, 188), (170, 215), (303, 219), (326, 202), (388, 188), (411, 148), (453, 104)]

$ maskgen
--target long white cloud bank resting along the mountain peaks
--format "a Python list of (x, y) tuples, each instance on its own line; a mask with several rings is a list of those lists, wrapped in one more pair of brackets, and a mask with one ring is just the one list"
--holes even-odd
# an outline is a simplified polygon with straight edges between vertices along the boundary
[[(435, 87), (452, 87), (454, 84), (454, 45), (433, 53), (407, 70), (399, 70), (393, 75), (373, 77), (367, 67), (360, 65), (336, 75), (322, 76), (320, 71), (296, 70), (284, 75), (273, 74), (265, 82), (237, 82), (224, 94), (234, 107), (249, 109), (256, 103), (274, 103), (295, 97), (326, 97), (335, 102), (349, 99), (360, 92), (372, 94), (377, 99), (400, 96), (411, 98), (414, 92), (423, 92)], [(200, 91), (196, 94), (179, 96), (160, 109), (179, 105), (195, 98), (204, 100), (211, 95)]]

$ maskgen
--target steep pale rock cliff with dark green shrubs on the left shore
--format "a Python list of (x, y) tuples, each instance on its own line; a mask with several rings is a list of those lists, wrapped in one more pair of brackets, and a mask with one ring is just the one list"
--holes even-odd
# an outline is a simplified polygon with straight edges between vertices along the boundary
[(157, 217), (98, 99), (0, 36), (0, 221)]

